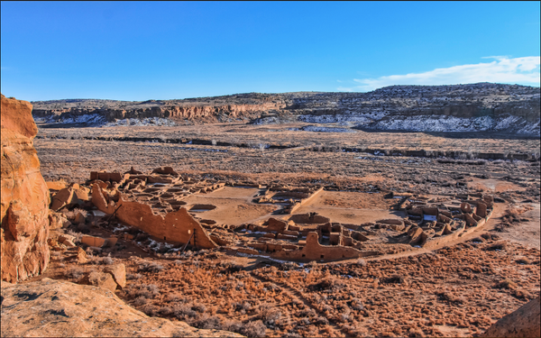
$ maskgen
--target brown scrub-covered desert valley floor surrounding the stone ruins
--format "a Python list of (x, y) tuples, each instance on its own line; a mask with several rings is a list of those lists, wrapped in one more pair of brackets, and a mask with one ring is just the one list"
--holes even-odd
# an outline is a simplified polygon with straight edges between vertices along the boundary
[[(538, 138), (39, 127), (52, 203), (66, 188), (87, 199), (55, 207), (69, 222), (29, 281), (78, 282), (123, 262), (116, 294), (145, 314), (271, 337), (478, 336), (539, 297)], [(123, 211), (139, 204), (148, 219), (185, 210), (204, 229), (198, 243), (217, 245), (142, 232)]]

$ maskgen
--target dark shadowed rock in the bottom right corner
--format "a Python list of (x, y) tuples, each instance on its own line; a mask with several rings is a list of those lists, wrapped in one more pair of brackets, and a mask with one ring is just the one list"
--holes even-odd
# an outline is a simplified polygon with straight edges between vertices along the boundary
[(481, 337), (541, 337), (540, 299), (530, 300), (494, 323)]

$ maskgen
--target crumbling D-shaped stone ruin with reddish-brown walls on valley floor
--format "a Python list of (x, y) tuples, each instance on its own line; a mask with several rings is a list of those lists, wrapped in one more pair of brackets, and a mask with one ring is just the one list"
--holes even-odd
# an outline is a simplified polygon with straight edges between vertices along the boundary
[[(262, 186), (196, 180), (170, 167), (143, 174), (133, 168), (124, 174), (92, 172), (86, 187), (67, 187), (52, 196), (51, 206), (60, 208), (84, 199), (105, 215), (115, 215), (125, 229), (137, 229), (151, 235), (153, 241), (186, 248), (219, 248), (241, 254), (259, 255), (274, 260), (332, 261), (371, 257), (393, 250), (436, 248), (482, 227), (491, 216), (493, 198), (474, 196), (415, 196), (394, 193), (394, 209), (402, 219), (382, 219), (373, 223), (340, 224), (315, 212), (294, 214), (307, 205), (325, 187)], [(254, 204), (280, 204), (281, 209), (254, 224), (217, 224), (197, 217), (198, 211), (212, 205), (188, 205), (193, 194), (208, 194), (225, 186), (259, 188)], [(57, 209), (58, 210), (58, 209)], [(266, 218), (266, 219), (265, 219)], [(110, 218), (109, 218), (110, 219)], [(109, 222), (110, 223), (110, 222)], [(133, 239), (127, 233), (124, 239)], [(106, 242), (111, 242), (109, 239)], [(172, 246), (171, 246), (172, 248)], [(163, 257), (174, 257), (171, 249)]]

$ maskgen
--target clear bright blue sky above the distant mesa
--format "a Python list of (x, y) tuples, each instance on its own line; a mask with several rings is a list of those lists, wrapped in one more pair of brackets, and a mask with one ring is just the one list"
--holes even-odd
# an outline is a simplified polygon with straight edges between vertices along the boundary
[(173, 99), (539, 87), (539, 2), (5, 2), (2, 93)]

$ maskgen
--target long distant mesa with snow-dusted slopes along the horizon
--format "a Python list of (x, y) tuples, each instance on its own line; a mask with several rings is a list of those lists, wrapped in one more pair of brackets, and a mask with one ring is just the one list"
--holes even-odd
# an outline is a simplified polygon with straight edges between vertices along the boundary
[[(174, 123), (337, 123), (312, 132), (513, 132), (539, 135), (539, 87), (477, 83), (391, 86), (369, 93), (235, 94), (142, 102), (37, 101), (39, 123), (172, 125)], [(145, 120), (146, 119), (146, 120)], [(153, 119), (153, 120), (149, 120)], [(156, 120), (156, 119), (164, 119)], [(142, 120), (143, 123), (142, 123)]]

